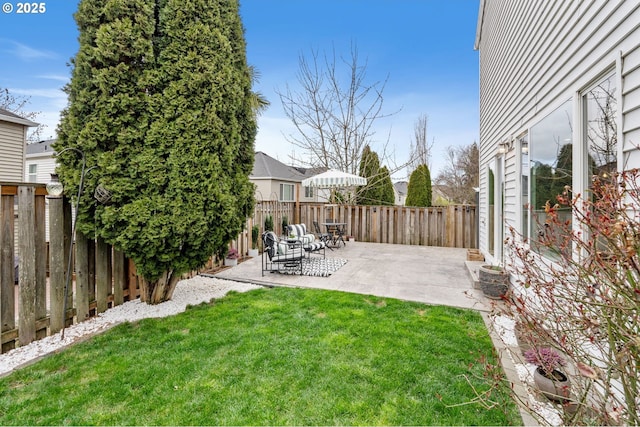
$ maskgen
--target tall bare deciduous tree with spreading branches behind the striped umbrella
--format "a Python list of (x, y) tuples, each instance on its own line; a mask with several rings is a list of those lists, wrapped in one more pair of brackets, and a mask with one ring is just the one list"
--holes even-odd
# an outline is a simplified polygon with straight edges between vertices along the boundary
[[(285, 114), (297, 130), (287, 141), (307, 156), (294, 160), (357, 174), (364, 147), (373, 146), (374, 124), (390, 116), (382, 111), (387, 79), (366, 81), (367, 64), (359, 63), (355, 45), (349, 58), (338, 61), (335, 48), (329, 55), (312, 50), (310, 57), (301, 54), (299, 63), (300, 89), (287, 85), (285, 91), (278, 92)], [(386, 145), (381, 160), (388, 164)]]

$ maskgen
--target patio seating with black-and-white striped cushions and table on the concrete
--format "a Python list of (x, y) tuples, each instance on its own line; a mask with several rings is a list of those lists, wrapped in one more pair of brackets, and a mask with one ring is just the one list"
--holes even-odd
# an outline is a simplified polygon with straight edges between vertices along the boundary
[(318, 222), (313, 222), (316, 234), (307, 232), (306, 224), (290, 224), (287, 226), (286, 236), (278, 237), (273, 231), (262, 235), (264, 250), (262, 252), (262, 275), (265, 271), (287, 272), (302, 274), (302, 266), (311, 258), (312, 254), (326, 258), (326, 248), (346, 245), (344, 232), (346, 224), (327, 222), (327, 232), (320, 231)]

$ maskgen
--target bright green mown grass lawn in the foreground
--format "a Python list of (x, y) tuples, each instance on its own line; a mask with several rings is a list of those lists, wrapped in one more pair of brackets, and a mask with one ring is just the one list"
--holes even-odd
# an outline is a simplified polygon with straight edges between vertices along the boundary
[(515, 425), (481, 317), (303, 289), (123, 324), (0, 379), (0, 425)]

